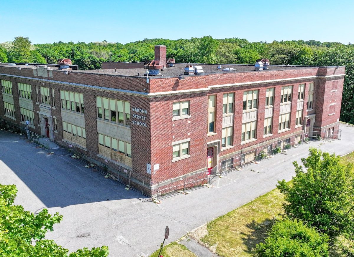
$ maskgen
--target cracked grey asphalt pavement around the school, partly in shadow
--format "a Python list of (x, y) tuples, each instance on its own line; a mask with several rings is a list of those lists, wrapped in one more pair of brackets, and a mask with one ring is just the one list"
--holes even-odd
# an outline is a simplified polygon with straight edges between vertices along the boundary
[(342, 140), (311, 142), (291, 148), (287, 154), (245, 166), (188, 195), (162, 199), (160, 204), (70, 156), (47, 155), (25, 143), (24, 136), (0, 131), (0, 183), (15, 184), (16, 204), (38, 213), (48, 208), (63, 221), (47, 233), (70, 251), (107, 245), (109, 256), (149, 256), (165, 244), (275, 188), (278, 180), (290, 180), (293, 161), (301, 162), (309, 147), (344, 155), (354, 150), (354, 126), (341, 124)]

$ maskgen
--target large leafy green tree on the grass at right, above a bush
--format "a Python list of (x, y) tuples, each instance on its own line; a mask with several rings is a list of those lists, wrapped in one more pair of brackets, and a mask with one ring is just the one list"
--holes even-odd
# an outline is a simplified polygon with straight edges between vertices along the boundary
[(278, 189), (284, 193), (285, 213), (303, 220), (335, 238), (342, 233), (353, 237), (354, 176), (351, 165), (339, 163), (339, 156), (309, 149), (309, 156), (301, 159), (304, 167), (295, 161), (296, 176), (292, 184), (279, 181)]

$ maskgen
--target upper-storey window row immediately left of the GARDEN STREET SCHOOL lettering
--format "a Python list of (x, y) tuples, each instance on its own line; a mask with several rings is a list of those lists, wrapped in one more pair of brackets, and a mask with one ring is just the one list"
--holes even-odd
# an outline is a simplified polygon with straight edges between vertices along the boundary
[(97, 117), (116, 123), (130, 125), (130, 103), (104, 97), (96, 97)]

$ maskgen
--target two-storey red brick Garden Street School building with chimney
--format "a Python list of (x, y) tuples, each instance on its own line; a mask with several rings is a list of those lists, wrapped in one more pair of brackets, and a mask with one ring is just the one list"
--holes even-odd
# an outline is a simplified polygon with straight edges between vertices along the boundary
[(0, 64), (0, 119), (27, 121), (30, 131), (137, 174), (134, 185), (148, 184), (150, 195), (261, 151), (336, 138), (342, 66), (176, 64), (156, 46), (148, 64), (103, 67)]

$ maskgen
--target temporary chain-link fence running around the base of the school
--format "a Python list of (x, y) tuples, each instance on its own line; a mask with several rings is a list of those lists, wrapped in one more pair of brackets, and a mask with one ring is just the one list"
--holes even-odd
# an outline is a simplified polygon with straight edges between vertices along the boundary
[(327, 129), (324, 131), (306, 132), (286, 139), (272, 139), (272, 143), (270, 144), (258, 145), (254, 148), (249, 147), (247, 150), (241, 150), (227, 159), (223, 159), (221, 156), (217, 165), (211, 170), (205, 168), (198, 172), (157, 182), (142, 175), (146, 171), (141, 173), (134, 172), (128, 166), (124, 168), (124, 165), (121, 163), (86, 150), (77, 144), (49, 140), (29, 131), (24, 126), (0, 120), (0, 129), (16, 133), (25, 133), (27, 131), (28, 141), (46, 149), (48, 154), (66, 155), (81, 161), (86, 168), (96, 169), (102, 172), (106, 178), (114, 179), (124, 184), (127, 190), (136, 190), (143, 195), (156, 199), (168, 197), (178, 192), (186, 193), (202, 185), (210, 185), (222, 174), (235, 170), (240, 171), (241, 167), (245, 165), (272, 157), (275, 154), (286, 154), (288, 149), (298, 147), (303, 143), (341, 138), (341, 130)]

